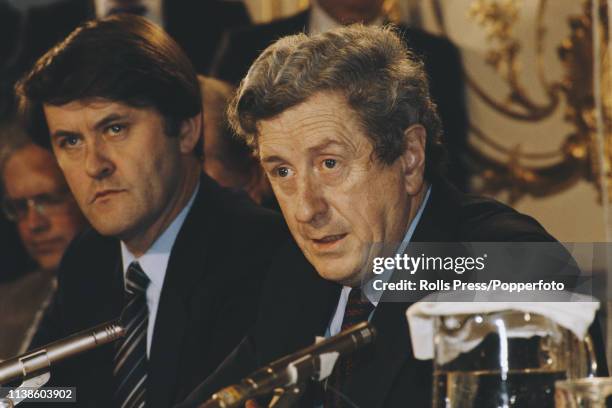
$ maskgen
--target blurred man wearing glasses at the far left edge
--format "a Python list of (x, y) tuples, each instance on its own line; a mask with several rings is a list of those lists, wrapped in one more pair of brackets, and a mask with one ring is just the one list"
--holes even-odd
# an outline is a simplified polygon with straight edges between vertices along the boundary
[(37, 268), (0, 285), (0, 359), (24, 352), (55, 292), (64, 251), (86, 225), (53, 154), (19, 126), (0, 130), (2, 209)]

